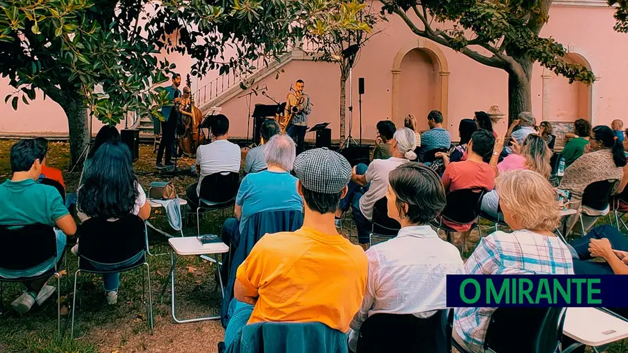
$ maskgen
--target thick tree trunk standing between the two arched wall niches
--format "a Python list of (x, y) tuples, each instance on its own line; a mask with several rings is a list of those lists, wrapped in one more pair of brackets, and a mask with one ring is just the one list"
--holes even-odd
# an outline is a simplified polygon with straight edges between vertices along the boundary
[(518, 67), (508, 70), (508, 125), (521, 112), (532, 112), (532, 62), (522, 59)]

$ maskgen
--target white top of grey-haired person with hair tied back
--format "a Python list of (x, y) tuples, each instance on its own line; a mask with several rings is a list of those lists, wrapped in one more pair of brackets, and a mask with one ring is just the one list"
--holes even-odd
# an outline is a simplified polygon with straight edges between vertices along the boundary
[(364, 177), (366, 177), (367, 183), (371, 183), (371, 186), (369, 186), (368, 191), (360, 197), (360, 211), (362, 211), (366, 219), (371, 220), (373, 218), (373, 206), (375, 206), (375, 202), (386, 196), (386, 190), (388, 190), (388, 174), (390, 171), (408, 162), (409, 161), (405, 158), (391, 157), (388, 159), (375, 159), (368, 165)]

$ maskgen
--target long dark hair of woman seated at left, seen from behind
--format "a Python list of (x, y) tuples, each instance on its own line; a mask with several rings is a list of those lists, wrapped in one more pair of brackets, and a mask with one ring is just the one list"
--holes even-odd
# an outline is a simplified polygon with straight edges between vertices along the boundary
[(84, 172), (77, 209), (89, 217), (121, 218), (133, 213), (139, 195), (130, 150), (110, 141), (100, 146)]

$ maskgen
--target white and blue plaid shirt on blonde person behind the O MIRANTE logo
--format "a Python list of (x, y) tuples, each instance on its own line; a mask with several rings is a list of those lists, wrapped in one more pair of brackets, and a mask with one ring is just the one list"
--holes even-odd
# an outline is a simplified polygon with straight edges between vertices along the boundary
[[(481, 239), (465, 263), (465, 273), (574, 274), (569, 248), (556, 236), (528, 230), (495, 232)], [(484, 338), (495, 308), (456, 308), (454, 329), (472, 352), (484, 352)]]

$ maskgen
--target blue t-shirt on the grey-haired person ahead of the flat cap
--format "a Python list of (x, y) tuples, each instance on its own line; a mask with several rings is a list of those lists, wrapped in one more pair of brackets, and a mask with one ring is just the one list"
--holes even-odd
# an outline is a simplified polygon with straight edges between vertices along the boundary
[(288, 172), (263, 170), (247, 174), (238, 190), (236, 204), (242, 206), (240, 232), (246, 220), (262, 211), (303, 211), (303, 200), (297, 193), (297, 178)]

